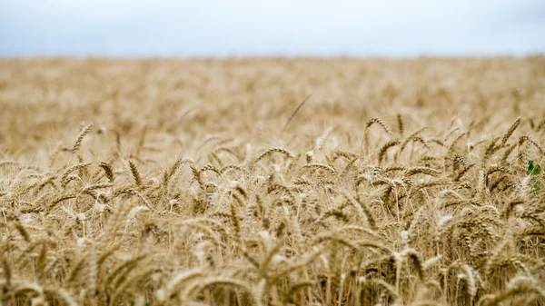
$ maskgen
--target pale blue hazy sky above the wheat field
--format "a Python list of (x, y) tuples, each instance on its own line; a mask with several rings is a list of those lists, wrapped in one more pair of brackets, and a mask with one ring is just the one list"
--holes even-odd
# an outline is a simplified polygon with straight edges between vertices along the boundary
[(545, 0), (0, 0), (0, 56), (545, 54)]

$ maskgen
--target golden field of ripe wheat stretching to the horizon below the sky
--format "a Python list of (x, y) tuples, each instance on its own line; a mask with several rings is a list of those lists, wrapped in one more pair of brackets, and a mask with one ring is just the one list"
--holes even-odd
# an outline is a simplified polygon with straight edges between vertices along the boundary
[(0, 59), (0, 305), (545, 305), (541, 165), (542, 56)]

